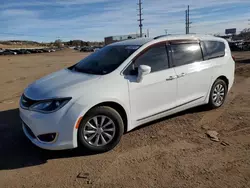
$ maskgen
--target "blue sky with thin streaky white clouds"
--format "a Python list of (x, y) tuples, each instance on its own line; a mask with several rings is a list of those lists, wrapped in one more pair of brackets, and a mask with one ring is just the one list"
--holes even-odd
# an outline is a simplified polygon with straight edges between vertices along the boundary
[[(190, 32), (224, 34), (250, 27), (250, 0), (142, 0), (143, 31), (150, 36)], [(138, 0), (0, 0), (0, 40), (103, 41), (139, 33)]]

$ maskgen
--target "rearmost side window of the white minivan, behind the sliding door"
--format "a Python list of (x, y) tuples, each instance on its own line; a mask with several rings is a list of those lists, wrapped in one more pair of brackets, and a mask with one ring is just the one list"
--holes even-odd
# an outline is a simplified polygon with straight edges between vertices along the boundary
[(204, 59), (214, 59), (225, 56), (225, 43), (219, 41), (201, 42)]

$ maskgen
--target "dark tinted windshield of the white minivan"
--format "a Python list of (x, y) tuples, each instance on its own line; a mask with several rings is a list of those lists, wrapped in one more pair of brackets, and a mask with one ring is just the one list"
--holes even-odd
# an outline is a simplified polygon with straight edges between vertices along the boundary
[(139, 47), (135, 45), (106, 46), (81, 60), (74, 69), (88, 74), (108, 74), (118, 68)]

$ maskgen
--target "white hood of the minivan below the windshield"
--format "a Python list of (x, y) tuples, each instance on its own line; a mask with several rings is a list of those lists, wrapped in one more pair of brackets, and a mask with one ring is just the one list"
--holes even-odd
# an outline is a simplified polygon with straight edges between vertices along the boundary
[[(45, 76), (25, 89), (24, 94), (34, 100), (55, 97), (72, 97), (72, 88), (82, 88), (83, 84), (100, 78), (100, 75), (85, 74), (63, 69)], [(81, 87), (79, 87), (81, 85)], [(67, 96), (66, 96), (67, 95)]]

